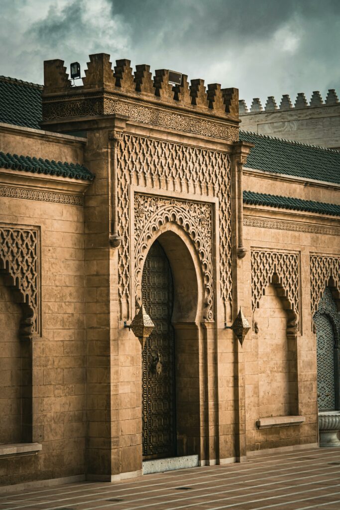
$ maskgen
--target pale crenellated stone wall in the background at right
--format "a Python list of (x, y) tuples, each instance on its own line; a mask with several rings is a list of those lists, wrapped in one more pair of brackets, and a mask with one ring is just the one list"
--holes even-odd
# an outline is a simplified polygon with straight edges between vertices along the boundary
[(328, 90), (325, 100), (314, 91), (309, 104), (300, 92), (294, 106), (284, 94), (279, 106), (270, 96), (264, 108), (258, 97), (252, 100), (250, 111), (244, 99), (239, 108), (244, 131), (340, 149), (340, 103), (334, 89)]

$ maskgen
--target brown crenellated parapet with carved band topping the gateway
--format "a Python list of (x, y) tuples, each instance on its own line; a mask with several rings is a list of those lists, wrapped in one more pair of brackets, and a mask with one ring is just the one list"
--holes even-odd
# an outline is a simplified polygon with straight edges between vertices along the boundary
[[(103, 53), (90, 55), (87, 66), (82, 85), (74, 86), (62, 60), (44, 62), (42, 125), (66, 117), (106, 114), (135, 116), (135, 120), (152, 124), (153, 119), (159, 117), (160, 109), (167, 109), (172, 112), (180, 110), (182, 115), (186, 115), (180, 121), (172, 118), (173, 129), (187, 125), (188, 129), (181, 131), (192, 131), (190, 126), (199, 122), (201, 126), (195, 127), (199, 133), (203, 129), (203, 118), (208, 118), (215, 122), (208, 136), (238, 140), (239, 91), (236, 88), (221, 88), (218, 83), (205, 87), (201, 79), (191, 80), (189, 84), (186, 74), (181, 75), (180, 85), (173, 85), (169, 82), (167, 69), (156, 70), (152, 78), (150, 66), (137, 65), (133, 72), (130, 61), (121, 59), (116, 60), (113, 67), (110, 55)], [(145, 108), (148, 113), (143, 113)], [(234, 127), (226, 131), (228, 124), (230, 128)], [(224, 126), (223, 129), (221, 126)]]

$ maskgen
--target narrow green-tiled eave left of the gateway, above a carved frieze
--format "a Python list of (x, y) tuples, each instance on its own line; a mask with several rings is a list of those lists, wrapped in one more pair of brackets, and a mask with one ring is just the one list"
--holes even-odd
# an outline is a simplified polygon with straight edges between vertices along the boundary
[(60, 175), (72, 179), (82, 179), (83, 181), (93, 181), (94, 179), (94, 174), (83, 165), (30, 158), (30, 156), (18, 156), (17, 154), (5, 154), (5, 152), (0, 152), (0, 168), (44, 173), (46, 175)]

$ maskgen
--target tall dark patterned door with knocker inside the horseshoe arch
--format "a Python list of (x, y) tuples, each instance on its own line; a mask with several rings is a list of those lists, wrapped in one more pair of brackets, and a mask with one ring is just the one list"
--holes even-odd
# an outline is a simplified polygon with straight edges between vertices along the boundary
[(143, 349), (143, 457), (176, 454), (173, 284), (166, 254), (158, 241), (147, 255), (142, 298), (155, 327)]

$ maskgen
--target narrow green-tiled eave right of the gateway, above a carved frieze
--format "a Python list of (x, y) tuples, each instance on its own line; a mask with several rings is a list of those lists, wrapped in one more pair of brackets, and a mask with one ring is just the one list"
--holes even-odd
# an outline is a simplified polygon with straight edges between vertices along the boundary
[(301, 198), (292, 198), (290, 196), (254, 193), (253, 191), (243, 192), (243, 203), (340, 216), (340, 206), (337, 206), (335, 203), (314, 202), (312, 200), (302, 200)]

